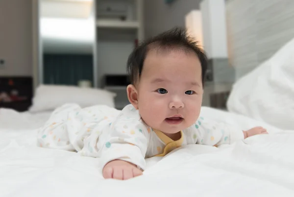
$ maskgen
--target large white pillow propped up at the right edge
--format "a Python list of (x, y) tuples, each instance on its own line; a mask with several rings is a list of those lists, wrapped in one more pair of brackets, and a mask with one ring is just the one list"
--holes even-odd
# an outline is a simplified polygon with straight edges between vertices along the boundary
[(294, 130), (294, 39), (233, 85), (227, 108)]

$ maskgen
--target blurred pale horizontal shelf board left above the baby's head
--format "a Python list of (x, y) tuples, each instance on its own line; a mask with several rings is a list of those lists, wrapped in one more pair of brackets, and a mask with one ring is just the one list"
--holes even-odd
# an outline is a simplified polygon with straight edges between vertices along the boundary
[(98, 19), (96, 21), (98, 28), (140, 28), (140, 24), (137, 21), (119, 21), (119, 20), (105, 20)]

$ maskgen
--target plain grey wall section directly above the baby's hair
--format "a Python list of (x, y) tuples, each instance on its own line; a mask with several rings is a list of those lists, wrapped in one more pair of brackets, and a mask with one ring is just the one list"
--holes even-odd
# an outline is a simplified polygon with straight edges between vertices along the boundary
[(145, 0), (145, 36), (157, 35), (174, 26), (185, 27), (186, 14), (193, 9), (199, 9), (200, 1), (174, 0), (171, 4), (166, 4), (165, 0)]

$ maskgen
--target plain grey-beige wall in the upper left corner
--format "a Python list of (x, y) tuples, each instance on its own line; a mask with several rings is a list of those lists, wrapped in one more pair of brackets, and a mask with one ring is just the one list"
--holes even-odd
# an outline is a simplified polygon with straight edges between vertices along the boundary
[(0, 0), (0, 28), (0, 76), (31, 76), (31, 0)]

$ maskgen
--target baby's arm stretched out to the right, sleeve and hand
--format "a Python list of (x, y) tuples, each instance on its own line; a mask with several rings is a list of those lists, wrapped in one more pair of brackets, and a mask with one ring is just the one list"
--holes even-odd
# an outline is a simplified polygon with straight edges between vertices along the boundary
[(212, 146), (231, 144), (253, 135), (267, 134), (266, 130), (262, 127), (254, 127), (250, 130), (242, 131), (240, 128), (229, 124), (201, 119), (194, 126), (197, 136), (196, 143)]

